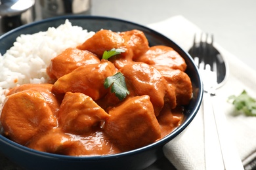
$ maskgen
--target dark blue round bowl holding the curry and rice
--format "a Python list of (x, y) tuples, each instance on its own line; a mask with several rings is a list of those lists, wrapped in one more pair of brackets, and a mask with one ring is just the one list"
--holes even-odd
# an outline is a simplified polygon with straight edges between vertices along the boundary
[(0, 135), (1, 154), (26, 169), (144, 169), (148, 167), (162, 156), (163, 145), (173, 139), (177, 139), (177, 136), (188, 127), (200, 108), (203, 90), (202, 80), (200, 79), (196, 65), (187, 52), (160, 33), (133, 22), (101, 16), (61, 16), (23, 25), (0, 37), (1, 54), (5, 54), (5, 52), (11, 48), (13, 42), (16, 41), (16, 37), (20, 34), (32, 34), (39, 31), (47, 31), (48, 27), (58, 27), (58, 25), (64, 24), (66, 19), (70, 20), (72, 25), (79, 25), (88, 31), (98, 31), (102, 28), (111, 29), (112, 31), (139, 29), (140, 31), (143, 31), (148, 38), (150, 46), (160, 44), (171, 46), (179, 52), (188, 65), (186, 73), (190, 76), (193, 85), (193, 98), (189, 105), (185, 107), (184, 122), (160, 141), (121, 154), (89, 157), (49, 154), (32, 150)]

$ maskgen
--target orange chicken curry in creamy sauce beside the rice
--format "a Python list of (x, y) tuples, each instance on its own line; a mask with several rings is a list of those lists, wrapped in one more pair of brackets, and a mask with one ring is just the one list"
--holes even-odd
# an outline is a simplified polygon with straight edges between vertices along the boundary
[[(125, 52), (108, 60), (106, 50)], [(3, 135), (35, 150), (70, 156), (116, 154), (158, 141), (179, 126), (192, 97), (186, 63), (173, 48), (148, 46), (139, 30), (100, 30), (51, 60), (49, 84), (12, 88), (3, 105)], [(120, 101), (104, 80), (121, 72)]]

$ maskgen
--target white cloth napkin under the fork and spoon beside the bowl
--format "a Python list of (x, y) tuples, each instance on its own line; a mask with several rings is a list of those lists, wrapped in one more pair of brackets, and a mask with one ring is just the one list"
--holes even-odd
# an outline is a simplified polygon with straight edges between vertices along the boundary
[[(186, 51), (192, 46), (194, 33), (202, 32), (199, 27), (182, 16), (174, 16), (150, 24), (148, 27), (169, 37)], [(249, 163), (256, 158), (256, 117), (235, 115), (234, 107), (227, 102), (227, 99), (230, 95), (239, 95), (243, 90), (246, 90), (252, 97), (256, 97), (256, 72), (217, 43), (215, 47), (228, 61), (230, 70), (228, 80), (217, 90), (219, 101), (217, 107), (221, 108), (223, 114), (226, 114), (230, 136), (245, 169), (250, 169)], [(202, 109), (199, 110), (181, 138), (167, 143), (163, 147), (163, 152), (177, 169), (205, 169)]]

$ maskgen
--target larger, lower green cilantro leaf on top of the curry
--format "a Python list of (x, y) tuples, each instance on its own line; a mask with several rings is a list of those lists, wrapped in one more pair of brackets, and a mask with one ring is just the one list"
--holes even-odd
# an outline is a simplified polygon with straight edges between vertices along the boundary
[(129, 90), (127, 90), (125, 84), (125, 76), (121, 72), (116, 73), (116, 75), (108, 76), (104, 82), (104, 87), (109, 88), (111, 86), (111, 92), (116, 94), (116, 97), (121, 101), (127, 95), (129, 95)]

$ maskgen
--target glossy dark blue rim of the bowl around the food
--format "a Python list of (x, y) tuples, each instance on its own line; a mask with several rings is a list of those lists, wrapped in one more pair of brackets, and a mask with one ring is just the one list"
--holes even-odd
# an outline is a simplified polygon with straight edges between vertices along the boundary
[(0, 134), (0, 141), (3, 141), (6, 144), (12, 145), (12, 146), (18, 148), (18, 150), (23, 150), (24, 152), (32, 152), (33, 154), (36, 154), (36, 155), (47, 156), (47, 157), (56, 158), (56, 159), (64, 159), (64, 160), (66, 159), (66, 160), (76, 160), (76, 161), (77, 160), (83, 160), (85, 158), (88, 161), (94, 161), (94, 160), (99, 160), (99, 159), (100, 160), (108, 160), (108, 159), (112, 159), (112, 158), (131, 156), (133, 154), (138, 154), (141, 151), (144, 152), (146, 150), (151, 150), (152, 148), (158, 148), (159, 146), (163, 146), (164, 144), (169, 142), (170, 138), (173, 139), (173, 138), (177, 137), (178, 135), (180, 135), (184, 131), (184, 129), (186, 129), (190, 125), (192, 120), (194, 120), (194, 117), (196, 116), (198, 110), (200, 109), (200, 105), (202, 103), (202, 96), (203, 96), (203, 83), (202, 83), (202, 79), (200, 78), (198, 68), (194, 64), (194, 61), (193, 61), (192, 57), (190, 56), (190, 54), (188, 54), (188, 52), (183, 50), (178, 44), (173, 42), (171, 39), (169, 39), (165, 35), (159, 33), (158, 31), (155, 31), (154, 29), (151, 29), (150, 27), (146, 27), (145, 25), (137, 24), (135, 22), (130, 22), (130, 21), (127, 21), (127, 20), (123, 20), (123, 19), (119, 19), (119, 18), (112, 18), (112, 17), (108, 17), (108, 16), (65, 15), (65, 16), (56, 16), (56, 17), (53, 17), (53, 18), (47, 18), (47, 19), (44, 19), (44, 20), (39, 20), (39, 21), (32, 22), (30, 24), (22, 25), (20, 27), (16, 27), (15, 29), (12, 29), (11, 31), (1, 35), (0, 36), (0, 41), (1, 41), (1, 39), (11, 35), (12, 33), (16, 32), (16, 31), (20, 31), (22, 29), (25, 29), (27, 27), (31, 27), (33, 25), (39, 25), (39, 24), (54, 21), (54, 20), (66, 20), (66, 19), (68, 19), (68, 20), (72, 20), (72, 19), (89, 19), (89, 20), (100, 19), (100, 20), (113, 20), (113, 21), (117, 21), (117, 22), (124, 22), (124, 23), (127, 23), (127, 24), (136, 25), (136, 26), (142, 27), (144, 29), (147, 29), (148, 31), (150, 31), (154, 34), (165, 38), (167, 41), (171, 41), (173, 44), (175, 44), (175, 46), (177, 48), (179, 48), (179, 50), (181, 50), (184, 54), (186, 54), (188, 59), (190, 59), (192, 61), (193, 69), (195, 69), (196, 76), (198, 77), (198, 81), (199, 81), (198, 88), (199, 88), (200, 91), (198, 93), (198, 97), (197, 97), (198, 99), (196, 100), (196, 105), (194, 106), (194, 109), (193, 109), (192, 113), (190, 114), (190, 116), (188, 116), (186, 118), (186, 120), (184, 122), (182, 122), (181, 126), (178, 126), (171, 133), (169, 133), (165, 137), (161, 138), (159, 141), (156, 141), (152, 144), (148, 144), (146, 146), (137, 148), (135, 150), (129, 150), (127, 152), (121, 152), (121, 153), (118, 153), (118, 154), (110, 154), (110, 155), (103, 155), (103, 156), (66, 156), (66, 155), (61, 155), (61, 154), (52, 154), (52, 153), (48, 153), (48, 152), (41, 152), (41, 151), (38, 151), (38, 150), (34, 150), (32, 148), (28, 148), (26, 146), (23, 146), (22, 144), (18, 144), (18, 143), (15, 143), (14, 141), (11, 141), (10, 139), (8, 139), (7, 137), (4, 137), (1, 134)]

